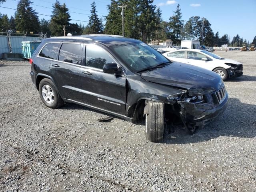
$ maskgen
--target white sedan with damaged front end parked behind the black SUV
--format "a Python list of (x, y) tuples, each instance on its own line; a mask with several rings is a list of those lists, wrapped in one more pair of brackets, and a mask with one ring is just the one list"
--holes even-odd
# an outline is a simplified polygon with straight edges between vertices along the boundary
[(239, 77), (243, 74), (243, 65), (240, 62), (222, 58), (206, 50), (182, 49), (163, 54), (166, 58), (218, 73), (222, 80)]

